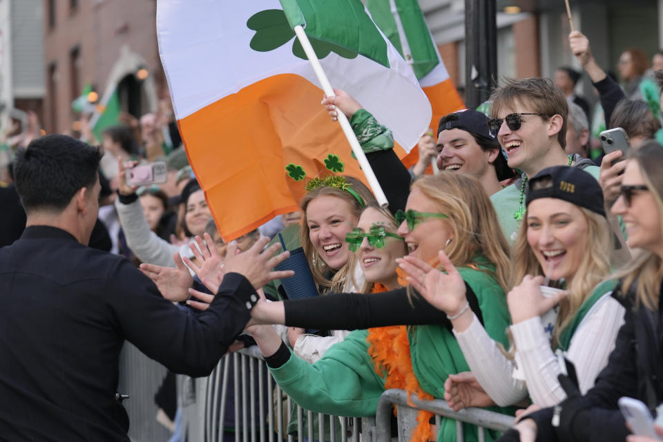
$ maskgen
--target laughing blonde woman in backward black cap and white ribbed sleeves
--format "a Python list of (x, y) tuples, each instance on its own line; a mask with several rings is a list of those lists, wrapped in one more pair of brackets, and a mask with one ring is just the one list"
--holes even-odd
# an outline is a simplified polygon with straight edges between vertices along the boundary
[[(514, 249), (515, 287), (507, 297), (515, 354), (501, 352), (476, 320), (454, 329), (472, 374), (492, 401), (508, 405), (529, 394), (545, 407), (566, 396), (553, 350), (561, 349), (575, 364), (579, 388), (586, 392), (608, 362), (624, 307), (610, 296), (616, 281), (602, 282), (610, 273), (613, 238), (596, 180), (573, 167), (544, 169), (528, 182), (526, 208)], [(540, 286), (546, 280), (565, 281), (566, 292), (544, 296)], [(557, 319), (544, 329), (541, 316), (558, 302)], [(475, 395), (461, 407), (478, 400)]]

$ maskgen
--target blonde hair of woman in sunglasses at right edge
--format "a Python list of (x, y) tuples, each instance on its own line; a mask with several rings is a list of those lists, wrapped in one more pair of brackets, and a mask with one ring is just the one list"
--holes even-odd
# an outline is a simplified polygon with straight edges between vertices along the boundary
[[(631, 150), (630, 161), (637, 162), (642, 172), (644, 184), (656, 202), (656, 209), (663, 218), (663, 146), (651, 140), (640, 148)], [(662, 223), (663, 224), (663, 223)], [(663, 225), (661, 226), (663, 238)], [(631, 263), (615, 278), (623, 278), (622, 287), (624, 294), (628, 293), (629, 287), (637, 281), (636, 302), (642, 302), (648, 309), (656, 311), (659, 305), (661, 281), (663, 280), (663, 260), (651, 251), (642, 250)]]

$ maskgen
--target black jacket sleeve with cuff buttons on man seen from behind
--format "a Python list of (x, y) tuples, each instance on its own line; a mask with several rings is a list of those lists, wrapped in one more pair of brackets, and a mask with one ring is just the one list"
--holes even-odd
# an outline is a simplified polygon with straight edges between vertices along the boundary
[(239, 273), (224, 276), (209, 308), (192, 315), (164, 299), (127, 260), (108, 273), (106, 302), (115, 327), (171, 372), (207, 376), (251, 318), (258, 296)]

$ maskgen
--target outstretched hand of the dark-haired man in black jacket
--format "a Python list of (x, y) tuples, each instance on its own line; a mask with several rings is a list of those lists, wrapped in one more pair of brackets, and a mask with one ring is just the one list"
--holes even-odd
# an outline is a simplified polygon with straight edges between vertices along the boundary
[[(262, 248), (269, 243), (269, 238), (260, 238), (253, 244), (251, 249), (242, 253), (236, 254), (238, 247), (237, 242), (232, 241), (228, 245), (226, 252), (226, 259), (224, 262), (225, 273), (236, 272), (240, 273), (247, 278), (255, 289), (260, 289), (267, 282), (275, 279), (289, 278), (295, 274), (292, 270), (272, 271), (275, 265), (283, 262), (290, 256), (289, 251), (279, 253), (273, 256), (274, 253), (280, 249), (281, 245), (271, 244), (265, 251)], [(262, 253), (261, 253), (262, 251)], [(208, 279), (208, 278), (205, 278)], [(202, 281), (203, 284), (205, 281)], [(216, 292), (214, 292), (216, 293)]]

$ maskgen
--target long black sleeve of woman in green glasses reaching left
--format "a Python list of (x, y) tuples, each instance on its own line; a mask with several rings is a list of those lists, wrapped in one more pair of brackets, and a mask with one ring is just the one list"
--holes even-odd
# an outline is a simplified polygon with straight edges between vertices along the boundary
[[(465, 284), (470, 307), (481, 323), (479, 301)], [(285, 325), (292, 327), (358, 330), (387, 325), (434, 325), (451, 329), (447, 315), (405, 287), (376, 294), (328, 294), (284, 301)]]

